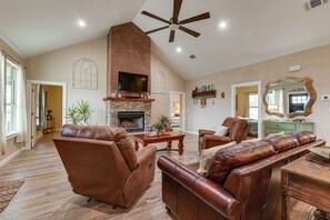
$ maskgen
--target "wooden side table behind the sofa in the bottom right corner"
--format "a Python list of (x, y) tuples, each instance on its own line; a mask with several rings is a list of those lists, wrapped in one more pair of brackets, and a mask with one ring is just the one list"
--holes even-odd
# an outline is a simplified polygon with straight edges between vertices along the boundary
[(289, 217), (289, 198), (301, 200), (330, 213), (330, 164), (317, 163), (307, 154), (281, 168), (282, 219)]

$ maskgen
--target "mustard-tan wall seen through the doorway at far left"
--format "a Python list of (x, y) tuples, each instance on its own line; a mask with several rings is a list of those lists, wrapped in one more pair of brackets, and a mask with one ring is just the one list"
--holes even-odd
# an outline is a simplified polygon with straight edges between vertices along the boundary
[(56, 129), (60, 129), (62, 126), (62, 87), (47, 86), (47, 110), (52, 110), (52, 117), (56, 121)]

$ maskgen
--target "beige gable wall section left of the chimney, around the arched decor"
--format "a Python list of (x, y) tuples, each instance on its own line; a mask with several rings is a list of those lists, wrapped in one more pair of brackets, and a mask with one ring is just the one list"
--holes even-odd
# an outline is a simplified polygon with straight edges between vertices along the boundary
[[(98, 66), (98, 89), (72, 88), (72, 66), (81, 58), (91, 59)], [(90, 101), (94, 109), (93, 123), (106, 123), (107, 96), (107, 38), (100, 38), (29, 58), (28, 79), (68, 83), (68, 107), (78, 100)]]

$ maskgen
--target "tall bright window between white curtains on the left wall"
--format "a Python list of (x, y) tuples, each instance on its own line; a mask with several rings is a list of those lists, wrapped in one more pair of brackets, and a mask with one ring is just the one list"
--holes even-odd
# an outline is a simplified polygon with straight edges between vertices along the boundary
[(18, 67), (7, 60), (6, 62), (6, 133), (16, 130), (16, 74)]

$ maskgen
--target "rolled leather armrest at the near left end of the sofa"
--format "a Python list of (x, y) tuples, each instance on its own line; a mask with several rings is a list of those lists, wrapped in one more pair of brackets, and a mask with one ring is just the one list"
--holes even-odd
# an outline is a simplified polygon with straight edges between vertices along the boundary
[(222, 186), (193, 172), (168, 156), (162, 156), (158, 159), (158, 167), (224, 218), (240, 218), (241, 202), (227, 192)]

